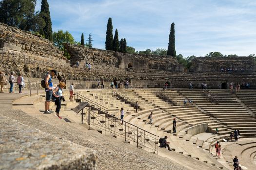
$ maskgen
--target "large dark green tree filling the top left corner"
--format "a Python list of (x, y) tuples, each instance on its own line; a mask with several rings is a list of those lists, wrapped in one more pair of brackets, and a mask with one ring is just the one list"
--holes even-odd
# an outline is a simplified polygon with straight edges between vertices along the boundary
[(26, 31), (39, 31), (41, 19), (35, 13), (36, 0), (1, 0), (0, 22)]

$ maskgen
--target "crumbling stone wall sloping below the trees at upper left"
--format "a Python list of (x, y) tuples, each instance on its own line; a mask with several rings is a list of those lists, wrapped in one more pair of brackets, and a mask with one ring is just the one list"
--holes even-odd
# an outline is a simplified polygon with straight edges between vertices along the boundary
[(22, 31), (3, 23), (0, 23), (0, 47), (41, 57), (64, 58), (63, 51), (60, 51), (51, 41), (38, 34)]

